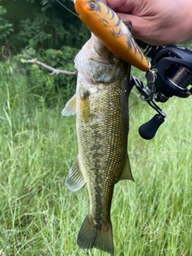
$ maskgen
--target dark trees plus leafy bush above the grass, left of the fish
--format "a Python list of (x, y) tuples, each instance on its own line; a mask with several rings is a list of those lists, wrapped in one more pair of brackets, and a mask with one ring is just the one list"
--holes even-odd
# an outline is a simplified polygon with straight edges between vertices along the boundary
[[(60, 2), (73, 10), (74, 4), (69, 0)], [(4, 36), (5, 40), (0, 41), (0, 47), (4, 49), (8, 46), (7, 49), (12, 51), (12, 54), (16, 53), (18, 68), (27, 74), (31, 92), (39, 96), (46, 95), (47, 104), (57, 102), (59, 90), (62, 90), (63, 97), (70, 98), (75, 90), (75, 76), (50, 76), (50, 70), (31, 65), (27, 60), (38, 58), (39, 62), (54, 69), (75, 71), (74, 57), (89, 37), (88, 30), (56, 0), (6, 0), (3, 5), (6, 8), (2, 7), (0, 11), (0, 36)], [(22, 15), (17, 17), (22, 18), (16, 22), (14, 6), (18, 5)], [(9, 15), (5, 16), (6, 14)], [(11, 17), (14, 26), (7, 19), (11, 20)], [(12, 30), (14, 33), (11, 33)]]

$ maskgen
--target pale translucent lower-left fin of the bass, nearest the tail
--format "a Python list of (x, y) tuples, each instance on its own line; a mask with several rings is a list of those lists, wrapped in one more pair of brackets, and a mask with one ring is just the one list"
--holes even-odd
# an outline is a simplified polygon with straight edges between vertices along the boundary
[(66, 177), (66, 186), (70, 191), (79, 190), (84, 184), (85, 180), (82, 177), (82, 172), (78, 164), (78, 157), (75, 159), (73, 166), (70, 168), (69, 174)]

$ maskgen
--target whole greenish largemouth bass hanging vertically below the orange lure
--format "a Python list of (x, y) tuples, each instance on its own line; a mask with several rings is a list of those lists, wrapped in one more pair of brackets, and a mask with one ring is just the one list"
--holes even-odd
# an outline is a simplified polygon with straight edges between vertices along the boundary
[(96, 248), (114, 255), (110, 219), (114, 185), (134, 181), (127, 153), (130, 64), (111, 53), (93, 33), (74, 62), (76, 94), (62, 115), (76, 114), (78, 157), (66, 186), (77, 191), (86, 183), (90, 198), (77, 243), (83, 250)]

